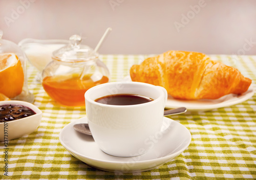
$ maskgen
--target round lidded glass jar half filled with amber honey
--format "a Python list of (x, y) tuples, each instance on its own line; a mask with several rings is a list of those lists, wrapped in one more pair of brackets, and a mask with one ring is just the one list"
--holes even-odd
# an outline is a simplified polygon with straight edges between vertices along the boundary
[(109, 70), (99, 54), (81, 44), (72, 35), (68, 46), (56, 50), (42, 71), (42, 86), (56, 102), (65, 106), (84, 106), (84, 93), (98, 84), (109, 82)]

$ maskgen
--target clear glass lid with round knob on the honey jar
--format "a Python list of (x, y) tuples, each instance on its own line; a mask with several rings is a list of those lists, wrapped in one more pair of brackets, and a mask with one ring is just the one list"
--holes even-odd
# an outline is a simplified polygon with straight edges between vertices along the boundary
[(72, 35), (69, 40), (70, 43), (68, 46), (53, 52), (53, 59), (64, 62), (80, 62), (98, 58), (98, 53), (96, 53), (92, 48), (81, 44), (81, 36)]

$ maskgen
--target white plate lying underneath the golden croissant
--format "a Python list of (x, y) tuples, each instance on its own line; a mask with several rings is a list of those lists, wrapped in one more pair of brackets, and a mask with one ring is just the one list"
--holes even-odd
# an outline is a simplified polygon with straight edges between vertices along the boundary
[(178, 100), (169, 96), (165, 104), (165, 107), (167, 108), (186, 107), (188, 111), (206, 111), (206, 110), (227, 107), (227, 106), (241, 103), (251, 98), (253, 94), (254, 94), (253, 87), (252, 85), (250, 85), (248, 90), (242, 95), (229, 94), (214, 100), (210, 100), (210, 99)]

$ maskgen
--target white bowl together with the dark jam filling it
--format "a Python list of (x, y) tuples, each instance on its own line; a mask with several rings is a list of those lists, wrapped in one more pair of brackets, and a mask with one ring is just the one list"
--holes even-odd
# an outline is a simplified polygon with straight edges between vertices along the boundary
[(37, 129), (42, 111), (25, 101), (0, 101), (0, 141), (9, 141)]

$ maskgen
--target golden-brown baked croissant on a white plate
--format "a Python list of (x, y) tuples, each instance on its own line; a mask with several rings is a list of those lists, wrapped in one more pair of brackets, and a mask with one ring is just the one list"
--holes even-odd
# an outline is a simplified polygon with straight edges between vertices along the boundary
[(185, 51), (147, 58), (133, 65), (130, 75), (133, 81), (163, 86), (172, 97), (187, 100), (242, 94), (251, 84), (236, 68), (205, 54)]

